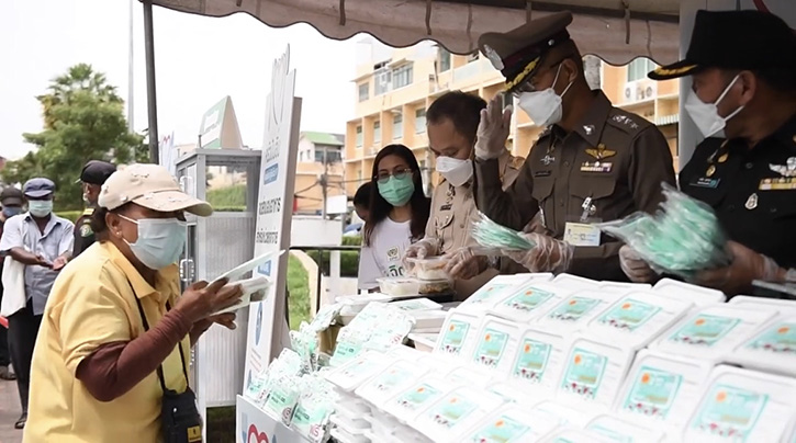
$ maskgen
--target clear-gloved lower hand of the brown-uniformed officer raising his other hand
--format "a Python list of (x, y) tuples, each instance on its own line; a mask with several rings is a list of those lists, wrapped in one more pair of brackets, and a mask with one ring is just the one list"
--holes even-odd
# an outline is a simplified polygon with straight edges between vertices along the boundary
[(527, 268), (530, 272), (565, 272), (572, 262), (575, 247), (541, 234), (523, 234), (523, 237), (536, 243), (525, 250), (502, 250), (503, 254)]

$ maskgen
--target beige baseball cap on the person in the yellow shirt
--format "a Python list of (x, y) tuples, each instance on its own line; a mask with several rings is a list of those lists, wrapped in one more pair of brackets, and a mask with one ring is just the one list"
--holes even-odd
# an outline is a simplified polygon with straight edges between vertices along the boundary
[(186, 211), (200, 217), (213, 214), (208, 202), (182, 192), (177, 180), (159, 164), (137, 163), (117, 170), (102, 185), (98, 203), (106, 209), (135, 203), (161, 213)]

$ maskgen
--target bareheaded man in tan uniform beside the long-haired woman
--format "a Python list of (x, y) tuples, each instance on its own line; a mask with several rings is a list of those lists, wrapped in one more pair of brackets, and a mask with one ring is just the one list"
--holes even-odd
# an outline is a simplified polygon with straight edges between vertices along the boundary
[[(448, 270), (456, 279), (459, 299), (469, 297), (497, 274), (495, 259), (471, 249), (478, 245), (470, 234), (478, 217), (472, 154), (480, 113), (485, 107), (483, 99), (461, 91), (448, 92), (428, 107), (429, 147), (442, 180), (431, 195), (426, 237), (406, 251), (407, 257), (449, 255)], [(523, 161), (504, 147), (497, 157), (497, 169), (498, 180), (505, 186), (517, 177)]]

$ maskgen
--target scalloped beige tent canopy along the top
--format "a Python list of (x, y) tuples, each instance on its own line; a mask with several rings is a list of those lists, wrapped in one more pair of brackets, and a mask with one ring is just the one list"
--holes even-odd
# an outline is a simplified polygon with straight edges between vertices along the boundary
[(478, 36), (570, 10), (572, 38), (583, 54), (613, 65), (636, 57), (673, 63), (680, 52), (680, 0), (152, 0), (206, 16), (243, 12), (273, 27), (309, 23), (328, 38), (368, 33), (395, 47), (433, 39), (455, 54), (478, 48)]

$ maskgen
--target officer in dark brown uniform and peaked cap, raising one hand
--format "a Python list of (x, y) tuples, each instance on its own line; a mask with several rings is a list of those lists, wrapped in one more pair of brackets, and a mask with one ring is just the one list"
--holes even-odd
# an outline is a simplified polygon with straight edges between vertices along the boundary
[(614, 107), (592, 91), (583, 61), (561, 12), (507, 33), (487, 33), (481, 52), (506, 78), (506, 89), (539, 126), (519, 177), (501, 189), (496, 154), (504, 149), (511, 110), (501, 98), (482, 112), (475, 146), (479, 209), (496, 223), (523, 229), (541, 212), (543, 234), (527, 234), (537, 247), (504, 253), (530, 271), (570, 272), (598, 280), (626, 280), (616, 240), (596, 222), (652, 213), (661, 182), (674, 184), (672, 154), (649, 121)]

